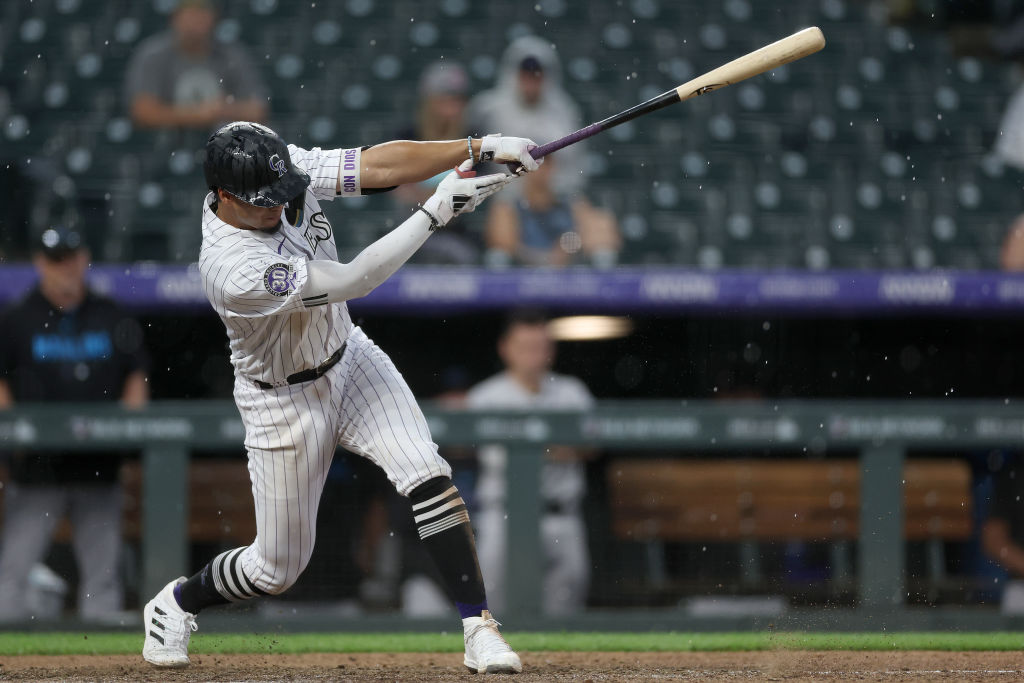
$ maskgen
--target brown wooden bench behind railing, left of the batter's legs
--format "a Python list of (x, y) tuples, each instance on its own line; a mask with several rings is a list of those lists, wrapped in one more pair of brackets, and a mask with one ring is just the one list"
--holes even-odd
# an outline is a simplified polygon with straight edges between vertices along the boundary
[[(6, 468), (0, 468), (0, 482), (9, 480)], [(138, 540), (142, 528), (142, 468), (136, 461), (121, 467), (124, 489), (122, 532), (125, 539)], [(0, 519), (3, 514), (0, 488)], [(245, 546), (256, 538), (252, 484), (246, 460), (193, 460), (188, 468), (188, 539), (195, 543)], [(54, 539), (71, 541), (71, 524), (62, 519)]]

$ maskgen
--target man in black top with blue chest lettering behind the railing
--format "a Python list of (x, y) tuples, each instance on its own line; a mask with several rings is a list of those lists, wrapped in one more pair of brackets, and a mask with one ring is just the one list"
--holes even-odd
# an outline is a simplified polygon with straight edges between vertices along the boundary
[[(45, 230), (35, 247), (37, 285), (6, 310), (0, 345), (0, 409), (17, 402), (148, 399), (138, 325), (89, 290), (89, 250), (78, 232)], [(29, 613), (29, 574), (46, 555), (57, 521), (73, 527), (79, 611), (116, 618), (122, 607), (120, 458), (111, 454), (12, 454), (0, 548), (0, 620)]]

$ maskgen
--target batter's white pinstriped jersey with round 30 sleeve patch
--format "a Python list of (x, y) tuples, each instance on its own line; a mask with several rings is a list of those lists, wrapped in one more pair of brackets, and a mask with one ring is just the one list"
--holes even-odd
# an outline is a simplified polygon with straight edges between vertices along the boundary
[[(306, 263), (338, 260), (334, 230), (319, 202), (336, 195), (344, 164), (342, 197), (360, 193), (360, 151), (303, 150), (288, 145), (292, 163), (309, 174), (302, 211), (275, 230), (240, 229), (217, 217), (211, 193), (203, 203), (203, 247), (199, 269), (206, 296), (227, 329), (237, 376), (283, 384), (314, 368), (348, 338), (348, 306), (303, 300)], [(326, 296), (326, 295), (325, 295)]]

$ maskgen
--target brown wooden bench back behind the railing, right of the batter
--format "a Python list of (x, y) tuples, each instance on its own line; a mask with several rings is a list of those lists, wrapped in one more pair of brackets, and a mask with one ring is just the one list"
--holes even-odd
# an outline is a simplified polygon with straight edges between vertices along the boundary
[[(852, 541), (860, 527), (855, 460), (617, 460), (612, 528), (644, 541)], [(903, 469), (907, 540), (971, 536), (971, 471), (961, 460)]]

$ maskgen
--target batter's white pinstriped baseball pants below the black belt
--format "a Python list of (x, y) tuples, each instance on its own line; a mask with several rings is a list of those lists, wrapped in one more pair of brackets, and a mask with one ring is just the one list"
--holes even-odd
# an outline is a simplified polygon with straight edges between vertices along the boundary
[(409, 385), (359, 328), (319, 379), (265, 390), (237, 379), (234, 400), (246, 426), (256, 509), (256, 539), (238, 561), (266, 593), (286, 590), (309, 562), (338, 444), (376, 463), (403, 496), (452, 475)]

